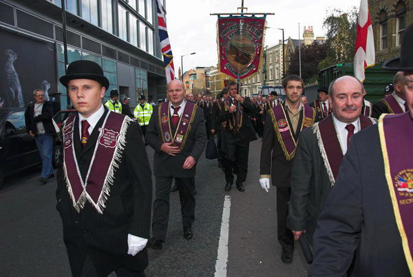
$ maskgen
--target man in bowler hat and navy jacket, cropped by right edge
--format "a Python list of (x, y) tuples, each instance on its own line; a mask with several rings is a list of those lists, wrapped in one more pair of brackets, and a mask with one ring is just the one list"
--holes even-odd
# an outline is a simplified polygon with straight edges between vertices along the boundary
[(309, 276), (412, 276), (413, 25), (401, 58), (407, 110), (356, 134), (319, 216)]

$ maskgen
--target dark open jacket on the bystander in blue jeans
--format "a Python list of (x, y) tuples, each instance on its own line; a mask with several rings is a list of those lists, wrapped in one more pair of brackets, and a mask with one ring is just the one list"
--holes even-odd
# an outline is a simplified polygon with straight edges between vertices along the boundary
[(32, 131), (33, 134), (38, 134), (36, 123), (42, 122), (43, 127), (45, 128), (45, 134), (56, 134), (54, 125), (52, 123), (53, 118), (53, 104), (50, 101), (45, 101), (41, 109), (41, 114), (34, 117), (34, 103), (28, 105), (24, 112), (25, 127), (26, 132)]

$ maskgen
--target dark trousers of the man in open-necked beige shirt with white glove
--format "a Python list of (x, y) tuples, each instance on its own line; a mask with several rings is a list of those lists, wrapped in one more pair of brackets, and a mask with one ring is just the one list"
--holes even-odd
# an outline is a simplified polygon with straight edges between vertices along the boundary
[(278, 242), (289, 254), (294, 252), (293, 232), (287, 228), (288, 201), (291, 188), (277, 187), (277, 237)]

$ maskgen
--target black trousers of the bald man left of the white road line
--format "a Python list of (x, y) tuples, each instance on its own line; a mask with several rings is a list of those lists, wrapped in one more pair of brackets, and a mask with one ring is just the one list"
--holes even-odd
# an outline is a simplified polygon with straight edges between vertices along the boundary
[[(165, 242), (169, 221), (169, 194), (173, 176), (155, 176), (156, 193), (153, 202), (152, 236)], [(195, 220), (194, 178), (176, 178), (181, 203), (182, 225), (190, 227)]]

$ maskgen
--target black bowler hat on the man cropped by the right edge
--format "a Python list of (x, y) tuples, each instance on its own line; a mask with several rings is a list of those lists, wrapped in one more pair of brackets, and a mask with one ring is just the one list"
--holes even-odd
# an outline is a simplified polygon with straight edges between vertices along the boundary
[(413, 24), (403, 34), (400, 57), (386, 61), (383, 68), (397, 71), (413, 71)]

